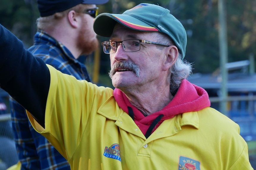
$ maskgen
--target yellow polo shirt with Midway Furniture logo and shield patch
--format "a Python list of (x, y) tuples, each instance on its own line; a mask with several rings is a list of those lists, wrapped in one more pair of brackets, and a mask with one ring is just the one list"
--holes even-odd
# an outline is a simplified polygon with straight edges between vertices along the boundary
[(117, 105), (113, 90), (51, 66), (43, 129), (73, 170), (252, 170), (239, 126), (215, 109), (167, 119), (146, 139)]

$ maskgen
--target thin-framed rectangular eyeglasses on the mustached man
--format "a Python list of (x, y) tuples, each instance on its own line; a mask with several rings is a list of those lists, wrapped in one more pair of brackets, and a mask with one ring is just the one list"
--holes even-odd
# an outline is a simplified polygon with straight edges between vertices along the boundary
[(115, 53), (118, 43), (122, 44), (122, 47), (125, 52), (140, 51), (140, 43), (155, 44), (155, 45), (159, 45), (159, 46), (169, 47), (166, 44), (161, 44), (161, 43), (156, 43), (156, 42), (146, 41), (146, 40), (104, 41), (101, 43), (101, 45), (103, 46), (104, 53), (106, 53), (106, 54)]

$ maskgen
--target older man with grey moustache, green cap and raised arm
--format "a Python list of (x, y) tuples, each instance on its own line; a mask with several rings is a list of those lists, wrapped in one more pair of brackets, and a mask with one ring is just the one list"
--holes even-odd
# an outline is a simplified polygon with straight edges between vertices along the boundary
[(0, 72), (8, 70), (1, 88), (72, 169), (252, 170), (239, 126), (186, 80), (186, 32), (168, 9), (140, 4), (103, 13), (94, 31), (110, 37), (102, 45), (114, 90), (46, 66), (0, 29)]

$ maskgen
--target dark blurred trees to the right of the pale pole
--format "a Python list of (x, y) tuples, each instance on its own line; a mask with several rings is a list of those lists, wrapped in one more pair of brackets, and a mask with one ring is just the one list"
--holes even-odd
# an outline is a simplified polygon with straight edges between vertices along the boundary
[(256, 1), (227, 3), (227, 29), (230, 61), (248, 59), (256, 54)]

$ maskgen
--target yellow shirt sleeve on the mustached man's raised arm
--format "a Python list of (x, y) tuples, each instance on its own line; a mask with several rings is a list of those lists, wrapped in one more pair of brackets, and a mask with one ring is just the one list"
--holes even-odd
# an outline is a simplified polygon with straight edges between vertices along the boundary
[(113, 89), (61, 73), (48, 65), (50, 88), (45, 109), (45, 129), (27, 112), (37, 130), (67, 159), (80, 144), (90, 114), (113, 95)]

